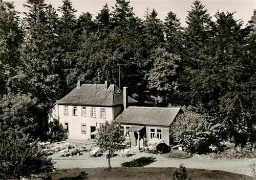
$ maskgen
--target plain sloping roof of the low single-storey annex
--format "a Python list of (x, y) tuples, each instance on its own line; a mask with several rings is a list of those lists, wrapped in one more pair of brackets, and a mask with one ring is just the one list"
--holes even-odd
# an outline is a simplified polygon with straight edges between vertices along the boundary
[(120, 123), (169, 126), (181, 108), (154, 108), (130, 106), (115, 120)]

